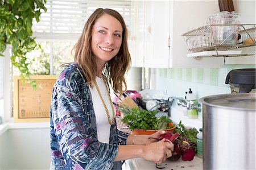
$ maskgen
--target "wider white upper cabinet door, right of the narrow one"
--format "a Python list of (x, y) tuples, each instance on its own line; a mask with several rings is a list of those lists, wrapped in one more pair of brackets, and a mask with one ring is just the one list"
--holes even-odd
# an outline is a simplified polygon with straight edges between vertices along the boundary
[(144, 67), (169, 67), (170, 1), (145, 1)]

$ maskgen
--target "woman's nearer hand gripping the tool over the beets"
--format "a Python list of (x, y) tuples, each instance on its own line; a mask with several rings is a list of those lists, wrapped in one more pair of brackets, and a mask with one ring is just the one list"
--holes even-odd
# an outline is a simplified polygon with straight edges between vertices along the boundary
[[(157, 135), (156, 133), (155, 135)], [(172, 156), (171, 151), (173, 150), (174, 150), (174, 144), (170, 142), (166, 142), (166, 139), (162, 139), (159, 142), (153, 142), (151, 144), (148, 144), (147, 146), (144, 146), (142, 157), (145, 160), (154, 161), (155, 163), (160, 164), (163, 161), (165, 161), (167, 157)]]

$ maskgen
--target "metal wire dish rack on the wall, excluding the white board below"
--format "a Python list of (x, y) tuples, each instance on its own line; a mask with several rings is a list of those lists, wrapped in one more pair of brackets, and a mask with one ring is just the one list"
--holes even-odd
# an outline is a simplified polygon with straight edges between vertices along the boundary
[[(236, 29), (234, 29), (221, 43), (217, 43), (213, 36), (214, 26), (215, 28), (216, 26), (236, 26)], [(236, 44), (226, 45), (225, 42), (227, 42), (228, 38), (238, 30), (241, 38)], [(241, 47), (255, 46), (255, 41), (253, 41), (254, 44), (243, 44), (243, 41), (249, 38), (253, 40), (253, 38), (256, 37), (256, 24), (212, 24), (188, 31), (181, 36), (183, 36), (190, 52), (216, 51), (218, 56), (218, 51), (229, 51)]]

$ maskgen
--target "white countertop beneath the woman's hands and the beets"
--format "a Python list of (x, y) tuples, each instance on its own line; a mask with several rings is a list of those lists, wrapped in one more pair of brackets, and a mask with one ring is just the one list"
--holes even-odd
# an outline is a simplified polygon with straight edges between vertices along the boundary
[[(151, 169), (157, 169), (155, 167), (155, 163), (151, 161), (146, 161), (143, 158), (135, 158), (135, 159), (129, 159), (125, 161), (126, 163), (126, 169), (131, 170), (151, 170)], [(192, 161), (183, 161), (181, 158), (177, 161), (170, 161), (166, 160), (162, 165), (165, 165), (165, 168), (163, 170), (187, 170), (187, 169), (193, 169), (193, 170), (203, 170), (203, 159), (200, 157), (195, 156)]]

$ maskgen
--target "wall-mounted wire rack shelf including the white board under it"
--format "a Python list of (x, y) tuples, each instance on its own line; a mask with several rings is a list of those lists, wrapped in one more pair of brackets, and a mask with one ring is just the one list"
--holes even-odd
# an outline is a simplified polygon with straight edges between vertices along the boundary
[[(216, 31), (217, 34), (216, 34)], [(235, 43), (234, 39), (238, 39), (236, 35), (240, 35), (240, 39)], [(214, 34), (215, 32), (215, 34)], [(216, 36), (220, 36), (228, 32), (224, 40), (216, 40)], [(255, 46), (255, 41), (251, 44), (243, 44), (245, 40), (256, 37), (256, 24), (211, 24), (196, 28), (195, 30), (184, 33), (183, 38), (190, 52), (188, 57), (234, 57), (255, 55), (253, 53), (242, 53), (237, 51), (238, 48)], [(233, 39), (233, 41), (232, 41)]]

